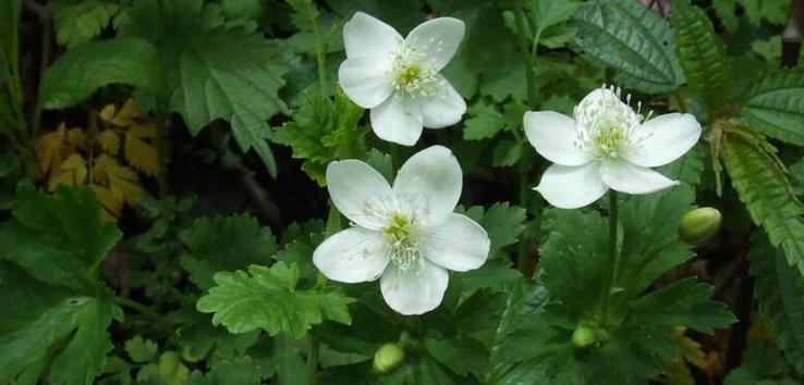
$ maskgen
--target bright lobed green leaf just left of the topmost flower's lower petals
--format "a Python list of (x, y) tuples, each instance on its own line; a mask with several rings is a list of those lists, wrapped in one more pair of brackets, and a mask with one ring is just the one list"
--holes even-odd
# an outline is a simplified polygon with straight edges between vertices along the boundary
[(305, 160), (302, 170), (319, 186), (325, 186), (329, 162), (360, 158), (365, 152), (366, 129), (357, 125), (362, 116), (363, 109), (340, 89), (334, 102), (305, 94), (302, 104), (291, 113), (291, 121), (275, 132), (273, 140), (292, 147), (293, 158)]

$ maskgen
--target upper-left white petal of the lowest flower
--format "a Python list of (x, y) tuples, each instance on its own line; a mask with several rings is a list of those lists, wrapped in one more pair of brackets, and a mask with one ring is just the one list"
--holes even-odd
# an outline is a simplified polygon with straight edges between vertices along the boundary
[(350, 221), (368, 228), (379, 228), (385, 222), (377, 202), (393, 192), (380, 173), (358, 160), (331, 162), (327, 166), (327, 189), (332, 203)]

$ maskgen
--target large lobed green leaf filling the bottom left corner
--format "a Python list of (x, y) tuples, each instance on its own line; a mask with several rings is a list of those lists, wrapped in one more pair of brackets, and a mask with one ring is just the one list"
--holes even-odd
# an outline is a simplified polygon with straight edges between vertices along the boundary
[(92, 384), (103, 369), (120, 309), (97, 274), (121, 234), (100, 212), (89, 188), (19, 188), (0, 228), (0, 383)]

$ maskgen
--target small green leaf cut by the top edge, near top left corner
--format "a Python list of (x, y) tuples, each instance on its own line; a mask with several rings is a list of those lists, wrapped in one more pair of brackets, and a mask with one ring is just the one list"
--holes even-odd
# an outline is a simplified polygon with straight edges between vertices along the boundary
[(92, 40), (118, 13), (118, 4), (105, 0), (54, 1), (56, 41), (72, 48)]

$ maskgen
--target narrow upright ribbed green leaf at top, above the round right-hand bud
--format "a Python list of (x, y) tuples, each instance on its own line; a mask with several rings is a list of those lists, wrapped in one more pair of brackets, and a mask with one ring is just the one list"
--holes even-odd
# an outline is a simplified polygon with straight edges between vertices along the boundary
[(690, 87), (709, 114), (722, 108), (731, 95), (731, 66), (726, 48), (703, 10), (690, 0), (672, 0), (675, 50)]

